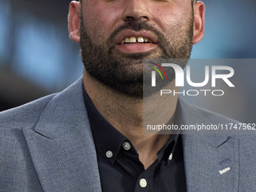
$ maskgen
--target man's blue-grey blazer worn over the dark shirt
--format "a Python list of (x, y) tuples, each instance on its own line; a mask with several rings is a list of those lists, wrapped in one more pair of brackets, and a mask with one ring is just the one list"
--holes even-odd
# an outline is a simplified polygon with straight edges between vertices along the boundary
[[(61, 93), (0, 113), (1, 192), (101, 191), (82, 89), (80, 78)], [(184, 99), (179, 104), (183, 124), (230, 121)], [(255, 135), (181, 139), (187, 191), (256, 191)]]

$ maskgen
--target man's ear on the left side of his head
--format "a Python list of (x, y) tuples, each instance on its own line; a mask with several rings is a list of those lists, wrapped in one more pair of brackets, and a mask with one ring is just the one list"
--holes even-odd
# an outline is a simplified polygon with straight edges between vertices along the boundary
[(80, 2), (69, 4), (69, 37), (77, 43), (80, 42), (80, 11)]

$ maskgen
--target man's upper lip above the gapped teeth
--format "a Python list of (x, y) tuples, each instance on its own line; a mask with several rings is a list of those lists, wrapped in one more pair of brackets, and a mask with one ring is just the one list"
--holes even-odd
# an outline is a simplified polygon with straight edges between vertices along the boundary
[(116, 44), (121, 44), (121, 42), (123, 41), (123, 39), (125, 38), (130, 38), (130, 37), (143, 37), (143, 38), (148, 38), (149, 40), (152, 41), (153, 44), (157, 44), (157, 37), (150, 31), (133, 31), (132, 29), (125, 29), (123, 31), (121, 31), (116, 38)]

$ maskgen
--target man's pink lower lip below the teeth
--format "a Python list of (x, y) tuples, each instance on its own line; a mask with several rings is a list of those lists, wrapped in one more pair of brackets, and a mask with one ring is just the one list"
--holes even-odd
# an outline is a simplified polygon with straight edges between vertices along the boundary
[(117, 44), (117, 49), (123, 53), (144, 53), (157, 47), (157, 44), (143, 44), (143, 43), (132, 43), (132, 44)]

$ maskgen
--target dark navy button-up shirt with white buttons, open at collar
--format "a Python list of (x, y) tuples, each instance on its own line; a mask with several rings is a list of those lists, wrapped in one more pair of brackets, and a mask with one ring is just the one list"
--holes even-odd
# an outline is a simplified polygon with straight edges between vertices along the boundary
[(85, 90), (84, 103), (103, 192), (186, 191), (180, 135), (171, 135), (157, 152), (157, 160), (145, 170), (133, 144), (102, 117)]

